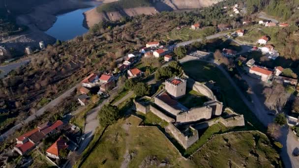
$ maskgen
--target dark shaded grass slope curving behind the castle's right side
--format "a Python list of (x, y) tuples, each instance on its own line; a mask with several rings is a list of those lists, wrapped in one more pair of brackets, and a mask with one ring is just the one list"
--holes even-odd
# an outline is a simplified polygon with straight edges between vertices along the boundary
[[(236, 89), (230, 84), (228, 79), (213, 64), (203, 61), (194, 60), (182, 64), (187, 75), (199, 82), (213, 80), (217, 86), (220, 86), (220, 101), (224, 107), (231, 107), (234, 111), (243, 114), (245, 120), (254, 125), (254, 127), (262, 132), (266, 132), (266, 128), (259, 122), (253, 112), (244, 104)], [(246, 123), (246, 122), (245, 122)]]

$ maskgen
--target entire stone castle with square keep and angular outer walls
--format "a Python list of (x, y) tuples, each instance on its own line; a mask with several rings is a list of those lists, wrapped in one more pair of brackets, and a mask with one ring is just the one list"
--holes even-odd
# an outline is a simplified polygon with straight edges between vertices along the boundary
[[(207, 128), (221, 122), (227, 127), (244, 126), (243, 115), (235, 112), (226, 118), (221, 117), (223, 104), (216, 99), (216, 96), (205, 84), (195, 82), (192, 79), (179, 77), (165, 81), (165, 88), (155, 94), (154, 105), (140, 103), (134, 100), (136, 111), (147, 113), (152, 112), (169, 124), (166, 131), (169, 132), (185, 149), (190, 147), (199, 139), (197, 129)], [(186, 87), (204, 94), (209, 101), (203, 106), (188, 109), (180, 104), (177, 99), (185, 96)], [(212, 119), (212, 120), (211, 120)], [(177, 126), (183, 126), (179, 130)]]

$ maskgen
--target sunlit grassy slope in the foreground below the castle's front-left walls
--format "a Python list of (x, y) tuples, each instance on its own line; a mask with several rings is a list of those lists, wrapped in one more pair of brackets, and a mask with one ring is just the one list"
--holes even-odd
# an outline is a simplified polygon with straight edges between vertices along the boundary
[(131, 117), (107, 128), (82, 168), (119, 168), (126, 151), (133, 154), (129, 168), (138, 168), (145, 158), (153, 156), (159, 163), (167, 160), (176, 167), (193, 167), (190, 161), (180, 157), (157, 127), (138, 127), (139, 121), (133, 122), (136, 118)]

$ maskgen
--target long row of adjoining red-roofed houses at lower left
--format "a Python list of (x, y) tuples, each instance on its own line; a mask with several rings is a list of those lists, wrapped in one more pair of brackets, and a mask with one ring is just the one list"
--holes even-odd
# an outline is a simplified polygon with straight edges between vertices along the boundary
[(39, 125), (37, 128), (16, 138), (17, 144), (13, 147), (12, 151), (16, 151), (20, 155), (26, 154), (38, 143), (40, 143), (40, 141), (46, 136), (60, 131), (62, 125), (63, 122), (60, 120), (57, 120), (54, 124), (51, 124), (51, 122), (46, 122)]

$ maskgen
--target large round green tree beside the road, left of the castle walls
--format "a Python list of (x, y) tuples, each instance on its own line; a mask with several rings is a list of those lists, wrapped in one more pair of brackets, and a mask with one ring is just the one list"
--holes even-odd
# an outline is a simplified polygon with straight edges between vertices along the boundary
[(118, 107), (112, 106), (110, 104), (104, 105), (98, 112), (100, 125), (106, 127), (108, 125), (114, 124), (120, 118), (119, 113)]

